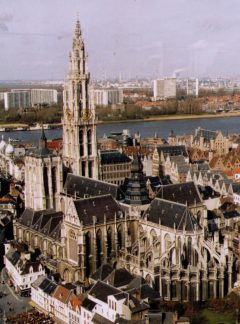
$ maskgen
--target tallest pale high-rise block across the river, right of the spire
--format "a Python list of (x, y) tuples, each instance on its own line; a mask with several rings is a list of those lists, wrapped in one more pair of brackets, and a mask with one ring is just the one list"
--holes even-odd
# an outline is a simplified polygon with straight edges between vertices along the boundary
[(155, 100), (176, 97), (176, 78), (157, 79), (153, 81), (153, 97)]

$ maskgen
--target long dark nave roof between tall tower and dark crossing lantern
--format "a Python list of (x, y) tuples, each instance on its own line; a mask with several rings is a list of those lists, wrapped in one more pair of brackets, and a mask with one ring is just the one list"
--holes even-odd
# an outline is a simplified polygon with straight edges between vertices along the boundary
[(123, 192), (117, 185), (107, 182), (76, 176), (68, 173), (63, 192), (73, 198), (96, 197), (110, 194), (113, 198), (121, 200)]

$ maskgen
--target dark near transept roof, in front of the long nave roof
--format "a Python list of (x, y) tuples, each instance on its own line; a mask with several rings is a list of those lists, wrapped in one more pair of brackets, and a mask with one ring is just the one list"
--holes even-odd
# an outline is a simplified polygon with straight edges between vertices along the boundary
[(97, 224), (103, 224), (123, 217), (123, 211), (111, 195), (91, 197), (74, 201), (79, 220), (84, 226), (92, 225), (94, 217)]

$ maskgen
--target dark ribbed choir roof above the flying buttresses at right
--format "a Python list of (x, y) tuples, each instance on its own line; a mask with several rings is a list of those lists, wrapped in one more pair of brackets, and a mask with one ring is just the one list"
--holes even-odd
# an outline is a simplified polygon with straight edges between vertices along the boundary
[(155, 198), (144, 216), (147, 216), (148, 221), (152, 223), (176, 228), (180, 231), (201, 229), (201, 226), (186, 205), (164, 199)]

